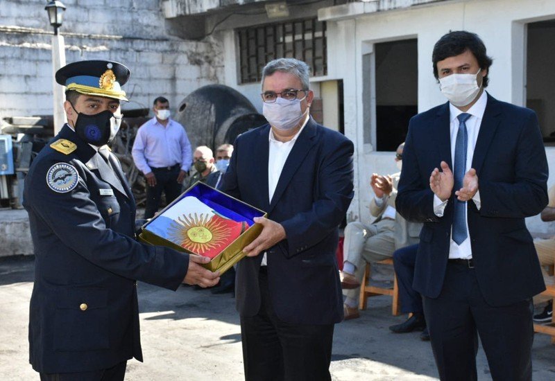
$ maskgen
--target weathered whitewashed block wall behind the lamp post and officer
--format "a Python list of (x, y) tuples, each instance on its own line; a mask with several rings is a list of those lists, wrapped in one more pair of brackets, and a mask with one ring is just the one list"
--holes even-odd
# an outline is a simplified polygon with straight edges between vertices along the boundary
[[(167, 34), (159, 0), (64, 0), (60, 34), (66, 61), (115, 60), (131, 78), (123, 87), (137, 106), (156, 96), (173, 111), (200, 86), (223, 83), (221, 44)], [(0, 120), (52, 114), (51, 35), (44, 0), (2, 0), (0, 7)], [(0, 122), (1, 123), (1, 122)]]

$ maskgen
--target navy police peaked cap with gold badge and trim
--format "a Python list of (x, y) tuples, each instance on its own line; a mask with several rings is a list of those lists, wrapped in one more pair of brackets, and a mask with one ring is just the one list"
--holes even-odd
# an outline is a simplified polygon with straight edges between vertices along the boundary
[(130, 75), (119, 62), (89, 60), (72, 62), (56, 71), (56, 82), (80, 94), (128, 100), (121, 89)]

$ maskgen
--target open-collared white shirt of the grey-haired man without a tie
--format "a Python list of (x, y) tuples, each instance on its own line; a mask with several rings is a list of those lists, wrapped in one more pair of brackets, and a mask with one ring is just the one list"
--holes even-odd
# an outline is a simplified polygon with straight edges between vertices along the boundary
[[(275, 193), (275, 188), (278, 186), (278, 181), (282, 174), (283, 166), (285, 161), (293, 149), (293, 145), (297, 141), (302, 130), (304, 130), (305, 125), (308, 123), (309, 116), (305, 118), (305, 123), (302, 123), (299, 132), (293, 136), (290, 141), (278, 141), (273, 135), (273, 131), (270, 128), (270, 134), (268, 140), (270, 141), (270, 150), (268, 152), (268, 200), (271, 203), (273, 194)], [(266, 266), (268, 261), (266, 259), (266, 253), (262, 257), (262, 266)]]

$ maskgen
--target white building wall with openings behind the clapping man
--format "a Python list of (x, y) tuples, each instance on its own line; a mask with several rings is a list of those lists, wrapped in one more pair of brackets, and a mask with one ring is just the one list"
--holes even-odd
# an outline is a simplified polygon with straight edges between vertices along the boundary
[[(345, 94), (345, 134), (355, 142), (355, 201), (350, 218), (370, 220), (366, 206), (373, 197), (368, 185), (373, 172), (395, 172), (393, 153), (375, 152), (364, 144), (362, 107), (362, 54), (369, 53), (376, 42), (418, 38), (418, 110), (423, 112), (445, 98), (438, 89), (432, 71), (432, 50), (436, 41), (450, 30), (470, 30), (486, 44), (493, 57), (488, 91), (499, 100), (524, 105), (525, 24), (555, 19), (552, 0), (466, 0), (440, 1), (424, 6), (364, 12), (358, 3), (327, 8), (319, 12), (327, 21), (328, 65), (330, 76), (343, 78)], [(341, 49), (341, 50), (338, 50)], [(337, 52), (341, 51), (341, 54)], [(551, 168), (555, 168), (555, 148), (547, 148)], [(554, 169), (555, 170), (555, 169)], [(549, 177), (548, 186), (555, 183)], [(552, 224), (539, 217), (527, 220), (533, 231), (553, 231)]]

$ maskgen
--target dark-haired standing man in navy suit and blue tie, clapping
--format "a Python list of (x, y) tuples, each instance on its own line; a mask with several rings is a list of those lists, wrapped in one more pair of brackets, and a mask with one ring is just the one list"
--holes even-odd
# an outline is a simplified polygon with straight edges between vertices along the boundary
[(474, 33), (444, 35), (432, 61), (449, 102), (411, 119), (397, 208), (424, 222), (413, 286), (439, 375), (477, 379), (479, 334), (494, 380), (531, 380), (531, 297), (545, 290), (524, 223), (547, 204), (538, 119), (486, 94), (492, 61)]

